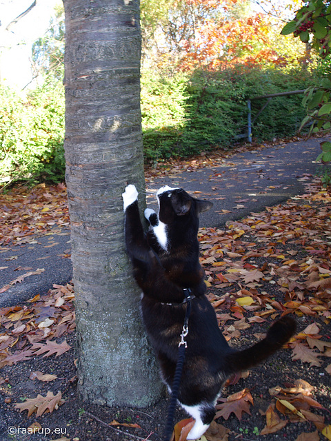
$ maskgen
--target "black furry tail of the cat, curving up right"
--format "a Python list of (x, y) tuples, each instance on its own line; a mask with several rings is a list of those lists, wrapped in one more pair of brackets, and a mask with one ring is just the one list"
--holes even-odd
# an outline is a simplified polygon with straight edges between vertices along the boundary
[(297, 323), (293, 318), (289, 316), (280, 318), (270, 327), (265, 338), (256, 345), (243, 351), (229, 353), (225, 359), (225, 372), (230, 375), (259, 365), (260, 362), (281, 349), (294, 335), (296, 328)]

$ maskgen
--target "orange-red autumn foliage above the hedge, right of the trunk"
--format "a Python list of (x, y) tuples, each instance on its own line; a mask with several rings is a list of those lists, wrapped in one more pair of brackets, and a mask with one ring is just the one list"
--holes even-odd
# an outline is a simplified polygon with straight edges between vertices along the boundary
[(285, 63), (272, 43), (270, 18), (257, 13), (234, 18), (236, 14), (231, 12), (236, 3), (237, 0), (177, 0), (170, 12), (168, 41), (177, 54), (179, 70)]

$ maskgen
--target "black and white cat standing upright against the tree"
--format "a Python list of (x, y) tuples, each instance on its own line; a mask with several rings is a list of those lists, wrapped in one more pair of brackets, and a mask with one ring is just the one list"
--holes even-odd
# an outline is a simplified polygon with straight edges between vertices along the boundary
[(145, 211), (150, 223), (145, 234), (137, 196), (134, 185), (128, 185), (123, 193), (126, 248), (134, 278), (143, 290), (143, 322), (159, 360), (161, 377), (170, 390), (187, 307), (183, 290), (190, 289), (194, 296), (178, 400), (195, 419), (188, 440), (196, 440), (214, 418), (223, 382), (280, 349), (294, 334), (296, 324), (285, 316), (256, 345), (242, 351), (232, 349), (205, 296), (199, 264), (199, 214), (212, 203), (192, 198), (181, 188), (161, 187), (157, 192), (159, 214), (152, 209)]

